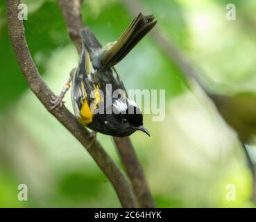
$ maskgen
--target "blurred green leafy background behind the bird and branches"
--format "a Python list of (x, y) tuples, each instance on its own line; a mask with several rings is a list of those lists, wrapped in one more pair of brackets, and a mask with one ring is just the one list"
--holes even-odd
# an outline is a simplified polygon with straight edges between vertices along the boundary
[[(201, 74), (214, 92), (256, 92), (256, 1), (138, 0), (157, 28)], [(58, 94), (78, 64), (58, 4), (26, 0), (26, 38), (49, 87)], [(236, 21), (226, 4), (234, 3)], [(83, 19), (102, 44), (130, 23), (123, 0), (85, 0)], [(120, 207), (110, 182), (76, 139), (28, 89), (8, 38), (0, 1), (0, 207)], [(133, 72), (131, 72), (133, 67)], [(165, 119), (145, 114), (151, 137), (131, 139), (157, 207), (255, 207), (252, 178), (237, 135), (200, 90), (186, 87), (182, 71), (158, 44), (145, 37), (117, 66), (127, 89), (165, 89)], [(71, 108), (70, 95), (65, 97)], [(112, 138), (98, 139), (121, 166)], [(253, 146), (250, 155), (255, 155)], [(28, 201), (19, 201), (19, 184)], [(235, 200), (228, 200), (229, 185)]]

